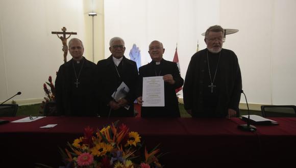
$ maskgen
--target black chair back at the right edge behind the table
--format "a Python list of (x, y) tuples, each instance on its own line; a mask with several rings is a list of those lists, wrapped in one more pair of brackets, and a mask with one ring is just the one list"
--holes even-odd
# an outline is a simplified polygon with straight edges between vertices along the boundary
[(261, 105), (262, 117), (296, 117), (295, 105)]

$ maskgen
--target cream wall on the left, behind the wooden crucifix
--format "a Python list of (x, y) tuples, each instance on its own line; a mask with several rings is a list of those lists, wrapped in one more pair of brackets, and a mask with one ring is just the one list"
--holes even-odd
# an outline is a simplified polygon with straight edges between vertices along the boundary
[(65, 26), (84, 40), (82, 9), (82, 0), (0, 1), (0, 102), (18, 91), (17, 103), (44, 96), (43, 83), (63, 64), (61, 40), (51, 32)]

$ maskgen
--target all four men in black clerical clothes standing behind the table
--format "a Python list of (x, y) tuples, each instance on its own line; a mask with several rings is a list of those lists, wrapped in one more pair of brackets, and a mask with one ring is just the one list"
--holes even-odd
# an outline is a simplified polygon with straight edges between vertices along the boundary
[[(221, 26), (209, 27), (205, 33), (207, 48), (191, 57), (185, 82), (177, 64), (163, 59), (165, 49), (159, 41), (150, 43), (148, 52), (152, 61), (138, 71), (136, 63), (124, 56), (126, 47), (121, 38), (110, 40), (110, 57), (97, 65), (83, 57), (82, 41), (72, 38), (68, 43), (72, 59), (60, 66), (55, 82), (58, 114), (134, 117), (134, 101), (140, 105), (143, 102), (143, 77), (163, 76), (164, 106), (142, 106), (141, 117), (180, 117), (175, 89), (183, 83), (184, 107), (192, 117), (236, 117), (241, 73), (236, 54), (222, 48), (224, 37)], [(115, 101), (111, 95), (122, 82), (130, 91)]]

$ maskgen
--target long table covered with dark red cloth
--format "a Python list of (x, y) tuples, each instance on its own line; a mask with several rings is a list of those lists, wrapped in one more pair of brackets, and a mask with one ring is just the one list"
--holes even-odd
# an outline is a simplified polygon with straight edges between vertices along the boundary
[[(21, 117), (2, 117), (14, 121)], [(1, 167), (62, 165), (58, 147), (83, 135), (87, 126), (102, 128), (116, 120), (137, 131), (147, 149), (168, 152), (165, 167), (289, 167), (296, 158), (296, 118), (270, 118), (276, 126), (256, 125), (244, 132), (238, 119), (45, 117), (30, 123), (0, 125)], [(39, 128), (58, 124), (54, 128)]]

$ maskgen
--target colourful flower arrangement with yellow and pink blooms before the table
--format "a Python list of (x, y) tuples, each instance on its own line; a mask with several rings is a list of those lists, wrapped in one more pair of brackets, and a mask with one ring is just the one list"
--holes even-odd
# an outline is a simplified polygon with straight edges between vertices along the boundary
[(97, 130), (86, 127), (83, 137), (68, 143), (68, 149), (61, 149), (66, 167), (162, 167), (158, 158), (163, 154), (158, 154), (158, 146), (150, 152), (142, 150), (141, 136), (125, 124), (117, 127), (117, 123)]

